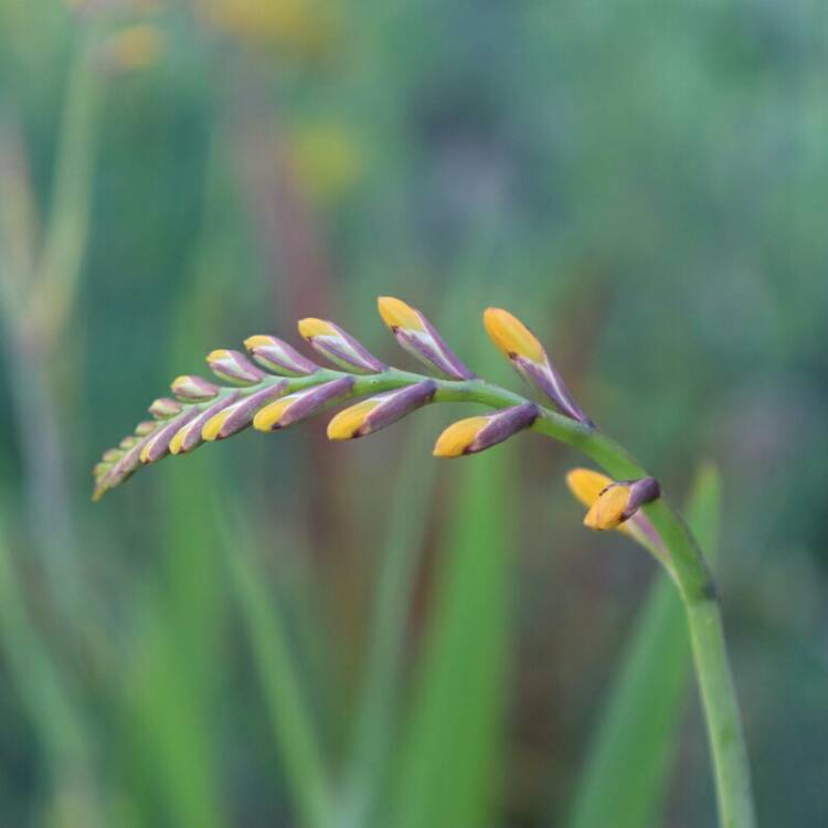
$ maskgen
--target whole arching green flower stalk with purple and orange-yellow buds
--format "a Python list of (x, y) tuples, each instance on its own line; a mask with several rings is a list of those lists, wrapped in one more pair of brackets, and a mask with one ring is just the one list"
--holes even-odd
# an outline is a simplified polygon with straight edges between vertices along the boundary
[(741, 714), (715, 587), (694, 539), (661, 497), (656, 479), (595, 428), (538, 338), (508, 311), (489, 308), (484, 315), (487, 332), (559, 411), (475, 376), (425, 316), (402, 300), (381, 297), (379, 309), (400, 344), (436, 376), (386, 365), (338, 325), (322, 319), (300, 320), (299, 332), (336, 369), (318, 365), (276, 337), (250, 337), (245, 347), (252, 359), (226, 349), (208, 357), (215, 376), (230, 385), (195, 375), (173, 381), (173, 396), (150, 405), (153, 420), (141, 422), (134, 435), (108, 449), (95, 466), (94, 499), (167, 455), (187, 454), (248, 426), (280, 431), (358, 397), (360, 402), (330, 421), (331, 439), (372, 434), (432, 403), (473, 402), (493, 412), (446, 428), (436, 442), (435, 456), (476, 454), (529, 429), (578, 448), (609, 475), (588, 469), (570, 473), (570, 488), (588, 508), (584, 523), (618, 529), (637, 540), (664, 564), (679, 590), (708, 722), (721, 825), (754, 828)]

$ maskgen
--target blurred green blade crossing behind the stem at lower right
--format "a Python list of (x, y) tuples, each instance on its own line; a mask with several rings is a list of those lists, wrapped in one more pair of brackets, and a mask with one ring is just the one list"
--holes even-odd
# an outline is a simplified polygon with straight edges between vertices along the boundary
[[(687, 519), (712, 563), (719, 537), (721, 481), (700, 466)], [(652, 828), (664, 809), (691, 656), (683, 607), (665, 576), (650, 588), (609, 690), (590, 747), (569, 828)]]

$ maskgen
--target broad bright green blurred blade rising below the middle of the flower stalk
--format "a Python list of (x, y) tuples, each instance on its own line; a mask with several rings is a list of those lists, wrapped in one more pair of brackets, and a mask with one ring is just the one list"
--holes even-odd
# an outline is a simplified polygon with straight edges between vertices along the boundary
[[(402, 746), (394, 828), (479, 828), (495, 800), (507, 666), (509, 447), (461, 460)], [(461, 465), (460, 465), (461, 464)]]

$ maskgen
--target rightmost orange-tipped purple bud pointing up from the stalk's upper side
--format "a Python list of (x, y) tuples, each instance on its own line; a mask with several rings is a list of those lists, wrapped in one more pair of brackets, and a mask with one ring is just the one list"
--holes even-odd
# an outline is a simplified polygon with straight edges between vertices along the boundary
[(502, 308), (488, 308), (484, 323), (491, 341), (509, 358), (527, 382), (545, 394), (566, 416), (592, 425), (578, 407), (538, 338), (517, 317)]

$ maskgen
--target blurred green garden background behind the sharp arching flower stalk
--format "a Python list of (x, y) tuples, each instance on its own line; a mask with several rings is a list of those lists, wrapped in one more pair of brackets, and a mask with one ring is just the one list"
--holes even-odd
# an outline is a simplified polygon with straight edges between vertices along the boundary
[[(330, 789), (350, 828), (590, 827), (660, 576), (583, 529), (571, 452), (438, 463), (463, 410), (437, 406), (353, 445), (245, 433), (89, 500), (213, 348), (322, 316), (410, 365), (378, 294), (514, 388), (480, 312), (521, 316), (677, 501), (715, 461), (760, 818), (828, 824), (827, 23), (818, 0), (0, 0), (0, 825), (317, 826)], [(594, 828), (714, 821), (670, 623), (626, 702), (646, 816)]]

